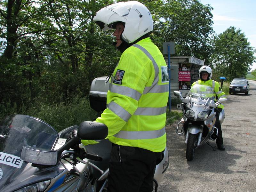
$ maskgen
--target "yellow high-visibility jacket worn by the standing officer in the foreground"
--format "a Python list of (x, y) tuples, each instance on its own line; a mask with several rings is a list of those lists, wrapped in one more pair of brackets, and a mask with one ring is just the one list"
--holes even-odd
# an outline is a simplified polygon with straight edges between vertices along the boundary
[(127, 48), (110, 78), (107, 108), (96, 122), (115, 144), (161, 152), (165, 148), (168, 68), (150, 38)]

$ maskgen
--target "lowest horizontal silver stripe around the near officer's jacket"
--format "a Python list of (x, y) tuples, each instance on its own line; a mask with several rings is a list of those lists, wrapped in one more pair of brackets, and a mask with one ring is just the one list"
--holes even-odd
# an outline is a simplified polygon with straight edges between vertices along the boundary
[(165, 127), (155, 131), (119, 131), (114, 137), (120, 139), (156, 139), (165, 134)]

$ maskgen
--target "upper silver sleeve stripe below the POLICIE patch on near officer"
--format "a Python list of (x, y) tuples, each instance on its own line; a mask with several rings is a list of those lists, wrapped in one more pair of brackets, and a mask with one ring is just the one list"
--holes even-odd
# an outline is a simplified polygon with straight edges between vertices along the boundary
[(131, 98), (133, 98), (137, 101), (141, 97), (140, 92), (138, 92), (135, 89), (132, 89), (130, 87), (125, 87), (125, 86), (122, 86), (122, 85), (110, 84), (109, 85), (109, 90), (112, 93), (118, 93), (118, 94), (121, 94), (121, 95), (125, 95), (125, 96), (131, 97)]

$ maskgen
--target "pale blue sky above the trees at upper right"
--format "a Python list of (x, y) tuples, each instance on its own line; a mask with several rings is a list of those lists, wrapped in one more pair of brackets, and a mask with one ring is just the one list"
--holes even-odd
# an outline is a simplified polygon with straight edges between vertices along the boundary
[[(256, 48), (256, 0), (201, 0), (213, 7), (213, 30), (220, 34), (230, 26), (240, 28)], [(256, 56), (256, 54), (254, 54)], [(252, 69), (256, 68), (253, 64)]]

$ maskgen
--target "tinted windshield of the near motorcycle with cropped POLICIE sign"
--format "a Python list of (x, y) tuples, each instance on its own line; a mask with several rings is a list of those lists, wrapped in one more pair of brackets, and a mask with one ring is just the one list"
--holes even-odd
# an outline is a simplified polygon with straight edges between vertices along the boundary
[(0, 124), (0, 188), (5, 191), (8, 187), (6, 190), (12, 191), (38, 178), (40, 170), (20, 158), (22, 147), (53, 150), (58, 138), (55, 129), (38, 118), (26, 115), (5, 117)]

